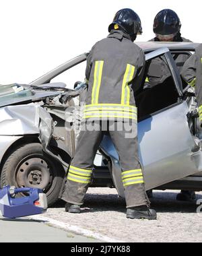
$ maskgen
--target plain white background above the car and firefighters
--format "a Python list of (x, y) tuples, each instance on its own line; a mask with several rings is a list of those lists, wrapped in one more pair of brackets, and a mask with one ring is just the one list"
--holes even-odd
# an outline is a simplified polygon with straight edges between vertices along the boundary
[(182, 36), (202, 42), (200, 0), (0, 0), (0, 84), (32, 82), (89, 51), (108, 35), (114, 14), (124, 7), (141, 18), (143, 35), (137, 41), (154, 37), (154, 17), (169, 8), (180, 17)]

